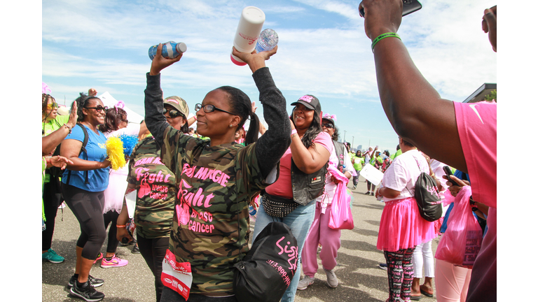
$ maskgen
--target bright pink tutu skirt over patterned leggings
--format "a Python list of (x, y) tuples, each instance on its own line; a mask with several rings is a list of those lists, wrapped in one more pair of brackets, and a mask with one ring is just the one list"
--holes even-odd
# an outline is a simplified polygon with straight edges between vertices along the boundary
[(414, 197), (385, 203), (379, 224), (378, 250), (396, 252), (435, 237), (434, 223), (420, 216)]

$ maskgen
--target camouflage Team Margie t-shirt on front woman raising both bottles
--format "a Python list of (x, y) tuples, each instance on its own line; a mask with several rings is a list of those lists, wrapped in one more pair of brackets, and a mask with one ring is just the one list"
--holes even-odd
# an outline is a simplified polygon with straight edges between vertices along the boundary
[(169, 248), (178, 262), (191, 264), (191, 293), (227, 296), (233, 294), (233, 265), (249, 251), (250, 197), (269, 184), (256, 143), (209, 143), (172, 127), (165, 131), (161, 158), (175, 173), (178, 192)]

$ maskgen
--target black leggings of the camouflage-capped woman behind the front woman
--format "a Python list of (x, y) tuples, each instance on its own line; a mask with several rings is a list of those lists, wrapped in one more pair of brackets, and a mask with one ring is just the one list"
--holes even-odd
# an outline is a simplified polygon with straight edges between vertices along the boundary
[(164, 287), (163, 282), (160, 281), (160, 274), (163, 273), (163, 259), (165, 259), (170, 237), (146, 239), (138, 234), (137, 242), (140, 254), (155, 276), (155, 292), (157, 302), (159, 302)]

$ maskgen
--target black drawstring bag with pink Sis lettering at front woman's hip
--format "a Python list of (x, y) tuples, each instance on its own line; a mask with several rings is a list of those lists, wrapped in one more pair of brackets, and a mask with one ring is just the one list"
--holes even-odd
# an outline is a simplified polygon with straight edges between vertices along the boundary
[(297, 271), (297, 240), (282, 222), (271, 222), (235, 264), (233, 292), (240, 302), (278, 302)]

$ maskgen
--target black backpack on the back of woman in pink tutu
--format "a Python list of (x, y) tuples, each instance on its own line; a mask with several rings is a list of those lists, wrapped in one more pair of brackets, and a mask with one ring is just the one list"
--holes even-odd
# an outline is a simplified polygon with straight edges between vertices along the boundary
[(441, 194), (437, 189), (437, 182), (427, 173), (422, 172), (418, 175), (417, 182), (415, 182), (415, 199), (417, 200), (420, 216), (425, 220), (434, 222), (443, 215)]

